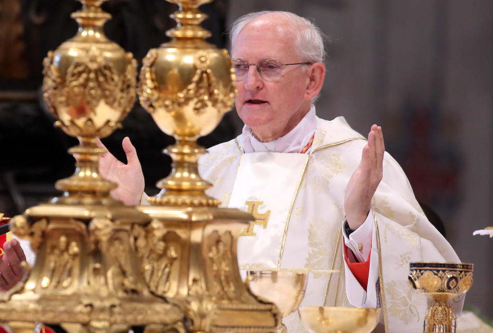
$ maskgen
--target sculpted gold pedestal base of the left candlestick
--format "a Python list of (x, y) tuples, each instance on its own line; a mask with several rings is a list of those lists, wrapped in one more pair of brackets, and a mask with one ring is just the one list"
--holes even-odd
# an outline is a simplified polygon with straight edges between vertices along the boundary
[(148, 224), (121, 203), (44, 204), (15, 216), (12, 231), (31, 241), (37, 258), (29, 276), (2, 294), (0, 321), (80, 324), (67, 326), (72, 332), (147, 324), (183, 331), (183, 312), (151, 294), (140, 275), (131, 235)]

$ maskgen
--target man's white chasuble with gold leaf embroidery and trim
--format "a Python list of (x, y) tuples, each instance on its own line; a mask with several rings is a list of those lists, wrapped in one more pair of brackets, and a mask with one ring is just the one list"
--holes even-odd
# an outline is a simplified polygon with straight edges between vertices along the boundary
[[(225, 207), (251, 210), (258, 217), (257, 224), (245, 230), (255, 235), (240, 236), (240, 266), (308, 268), (302, 306), (381, 306), (385, 332), (422, 331), (427, 300), (407, 282), (409, 262), (459, 258), (426, 219), (399, 164), (385, 154), (383, 179), (371, 205), (372, 250), (365, 291), (345, 268), (341, 236), (344, 193), (361, 161), (364, 137), (342, 117), (317, 118), (307, 162), (301, 154), (245, 154), (241, 142), (240, 135), (212, 147), (199, 160), (201, 176), (214, 184), (207, 194)], [(340, 273), (324, 271), (329, 269)], [(285, 323), (289, 332), (305, 331), (296, 313)]]

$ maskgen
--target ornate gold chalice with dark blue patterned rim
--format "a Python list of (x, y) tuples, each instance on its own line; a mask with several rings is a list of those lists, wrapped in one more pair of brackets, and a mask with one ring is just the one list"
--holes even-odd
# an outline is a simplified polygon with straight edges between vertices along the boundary
[(454, 333), (457, 316), (449, 301), (472, 285), (473, 264), (410, 263), (409, 282), (433, 301), (425, 316), (424, 333)]

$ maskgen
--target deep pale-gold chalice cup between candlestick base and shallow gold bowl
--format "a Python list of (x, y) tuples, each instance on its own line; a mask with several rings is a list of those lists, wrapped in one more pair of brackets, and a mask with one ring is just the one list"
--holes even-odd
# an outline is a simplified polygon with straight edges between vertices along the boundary
[(247, 284), (259, 298), (274, 303), (282, 317), (294, 312), (305, 297), (308, 272), (296, 269), (247, 271)]

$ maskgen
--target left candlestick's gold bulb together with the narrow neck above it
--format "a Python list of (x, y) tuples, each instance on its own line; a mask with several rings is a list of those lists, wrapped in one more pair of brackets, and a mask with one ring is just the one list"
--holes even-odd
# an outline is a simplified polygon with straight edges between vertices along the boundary
[(45, 101), (70, 136), (107, 137), (135, 102), (137, 62), (104, 35), (111, 18), (99, 7), (104, 1), (80, 0), (83, 8), (71, 15), (77, 34), (44, 60)]

